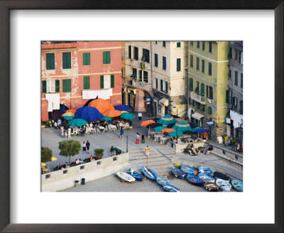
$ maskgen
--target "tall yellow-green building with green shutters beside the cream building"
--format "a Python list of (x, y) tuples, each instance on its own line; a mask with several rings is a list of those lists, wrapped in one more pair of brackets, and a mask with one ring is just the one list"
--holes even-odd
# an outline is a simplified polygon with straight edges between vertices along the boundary
[(229, 41), (188, 42), (188, 116), (197, 126), (211, 128), (213, 141), (226, 133), (228, 54)]

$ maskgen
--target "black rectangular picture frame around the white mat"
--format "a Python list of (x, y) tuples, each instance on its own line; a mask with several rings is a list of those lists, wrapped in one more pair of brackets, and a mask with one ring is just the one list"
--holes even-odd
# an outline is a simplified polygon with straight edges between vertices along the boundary
[[(275, 224), (10, 224), (9, 15), (12, 9), (272, 9), (275, 12)], [(2, 232), (283, 232), (283, 0), (0, 0)], [(261, 39), (261, 38), (260, 38)], [(261, 203), (260, 203), (261, 205)]]

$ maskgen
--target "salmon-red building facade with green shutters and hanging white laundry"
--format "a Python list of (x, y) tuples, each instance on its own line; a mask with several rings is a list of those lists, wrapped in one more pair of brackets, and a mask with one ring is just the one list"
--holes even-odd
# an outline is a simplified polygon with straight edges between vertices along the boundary
[(43, 41), (41, 87), (43, 121), (59, 118), (63, 103), (77, 109), (101, 97), (122, 104), (121, 42)]

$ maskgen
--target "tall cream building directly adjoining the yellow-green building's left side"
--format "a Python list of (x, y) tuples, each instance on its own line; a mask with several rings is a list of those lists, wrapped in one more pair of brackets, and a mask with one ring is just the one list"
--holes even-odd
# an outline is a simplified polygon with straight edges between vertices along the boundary
[(187, 43), (152, 41), (153, 114), (187, 114)]

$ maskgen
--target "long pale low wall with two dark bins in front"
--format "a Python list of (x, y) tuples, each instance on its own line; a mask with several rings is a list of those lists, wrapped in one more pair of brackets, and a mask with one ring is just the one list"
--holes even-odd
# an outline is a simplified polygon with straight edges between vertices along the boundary
[(66, 169), (62, 168), (62, 170), (41, 175), (41, 191), (54, 192), (70, 188), (75, 185), (75, 180), (79, 180), (80, 183), (82, 178), (85, 182), (97, 180), (126, 168), (129, 168), (129, 153), (121, 153), (118, 156), (102, 158)]

